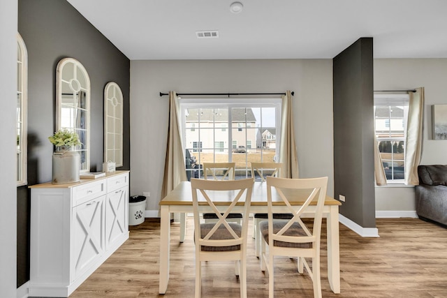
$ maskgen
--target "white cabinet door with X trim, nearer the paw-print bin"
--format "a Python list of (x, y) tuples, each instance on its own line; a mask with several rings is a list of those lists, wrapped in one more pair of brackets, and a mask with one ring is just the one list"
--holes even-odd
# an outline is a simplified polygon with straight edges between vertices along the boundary
[(105, 249), (129, 230), (128, 188), (123, 187), (108, 193), (105, 206)]

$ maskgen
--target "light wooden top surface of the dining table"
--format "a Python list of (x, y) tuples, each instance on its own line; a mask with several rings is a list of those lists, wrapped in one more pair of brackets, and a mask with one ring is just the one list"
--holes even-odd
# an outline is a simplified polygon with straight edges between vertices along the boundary
[[(213, 196), (213, 202), (217, 206), (225, 206), (230, 204), (234, 198), (234, 192), (219, 192), (219, 195)], [(309, 195), (310, 190), (284, 190), (284, 195), (289, 196), (289, 200), (293, 205), (300, 205)], [(199, 199), (200, 200), (200, 199)], [(163, 200), (159, 202), (160, 206), (163, 205), (191, 205), (192, 206), (192, 192), (191, 192), (191, 182), (182, 181), (180, 184), (174, 188), (168, 195), (166, 195)], [(200, 204), (200, 202), (199, 202)], [(203, 204), (207, 204), (203, 202)], [(237, 204), (242, 205), (243, 202), (238, 202)], [(284, 202), (278, 198), (278, 194), (272, 188), (272, 204), (273, 205), (284, 205)], [(316, 199), (311, 204), (316, 205)], [(341, 205), (338, 200), (326, 195), (325, 205)], [(267, 206), (267, 183), (265, 182), (255, 182), (253, 186), (253, 192), (251, 193), (251, 206)]]

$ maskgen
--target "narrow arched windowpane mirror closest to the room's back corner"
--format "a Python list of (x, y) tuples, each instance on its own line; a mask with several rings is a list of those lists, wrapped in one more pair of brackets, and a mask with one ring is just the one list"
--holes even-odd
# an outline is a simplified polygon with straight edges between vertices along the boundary
[(104, 162), (123, 165), (123, 93), (115, 82), (104, 89)]

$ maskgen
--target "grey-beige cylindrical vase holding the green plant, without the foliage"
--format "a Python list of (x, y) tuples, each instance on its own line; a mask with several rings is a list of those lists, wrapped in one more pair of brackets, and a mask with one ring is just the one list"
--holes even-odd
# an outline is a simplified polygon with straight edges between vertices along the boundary
[(71, 147), (58, 147), (53, 153), (52, 184), (67, 184), (80, 181), (78, 151)]

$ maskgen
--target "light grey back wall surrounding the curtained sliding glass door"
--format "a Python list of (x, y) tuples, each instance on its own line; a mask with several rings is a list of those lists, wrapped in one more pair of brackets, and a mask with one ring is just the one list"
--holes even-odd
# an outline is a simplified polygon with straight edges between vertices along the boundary
[(333, 195), (332, 59), (131, 61), (131, 195), (149, 191), (158, 210), (168, 129), (159, 92), (295, 91), (293, 114), (300, 177), (329, 177)]

